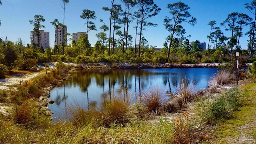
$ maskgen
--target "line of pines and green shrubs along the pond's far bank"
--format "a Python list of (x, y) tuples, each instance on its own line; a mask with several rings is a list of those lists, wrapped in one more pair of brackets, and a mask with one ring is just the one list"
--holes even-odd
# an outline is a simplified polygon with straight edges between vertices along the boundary
[[(68, 2), (68, 0), (62, 0), (62, 8), (64, 10), (63, 24), (58, 19), (54, 19), (51, 22), (54, 28), (59, 26), (62, 29), (65, 28), (65, 8)], [(22, 60), (18, 60), (18, 58), (30, 57), (33, 57), (33, 60), (29, 60), (30, 62), (64, 61), (78, 64), (87, 62), (230, 62), (234, 59), (234, 56), (232, 56), (234, 52), (240, 52), (247, 62), (254, 59), (256, 2), (244, 4), (248, 12), (254, 14), (254, 18), (250, 18), (247, 14), (232, 12), (220, 24), (220, 26), (225, 27), (227, 31), (232, 33), (230, 37), (225, 36), (220, 27), (216, 26), (215, 20), (210, 21), (208, 23), (210, 34), (207, 36), (209, 39), (208, 50), (206, 51), (202, 50), (198, 40), (190, 44), (190, 34), (185, 36), (186, 30), (182, 27), (182, 24), (188, 23), (194, 26), (196, 18), (190, 15), (190, 7), (183, 2), (167, 4), (169, 14), (163, 21), (170, 35), (166, 37), (166, 42), (164, 42), (161, 50), (150, 46), (143, 36), (143, 31), (146, 30), (147, 26), (158, 26), (150, 22), (150, 18), (157, 16), (161, 11), (161, 8), (158, 8), (153, 0), (121, 0), (122, 5), (110, 0), (110, 3), (111, 7), (102, 8), (102, 10), (108, 12), (109, 22), (104, 22), (100, 19), (100, 22), (102, 22), (102, 26), (99, 28), (101, 32), (96, 34), (98, 41), (94, 47), (88, 41), (88, 36), (90, 36), (89, 32), (91, 30), (97, 30), (94, 23), (96, 13), (95, 11), (84, 9), (80, 18), (84, 19), (86, 34), (82, 35), (77, 42), (72, 41), (72, 44), (66, 45), (64, 44), (65, 40), (62, 39), (62, 44), (56, 45), (55, 38), (54, 48), (49, 47), (44, 50), (38, 44), (28, 44), (25, 47), (21, 39), (18, 39), (16, 44), (1, 39), (1, 64), (5, 64), (9, 68), (12, 66), (25, 68), (26, 66), (19, 66), (18, 63), (22, 62)], [(44, 21), (45, 19), (42, 15), (35, 15), (34, 20), (29, 21), (34, 26), (34, 35), (40, 35), (39, 30), (44, 28), (42, 25)], [(132, 44), (134, 35), (130, 32), (132, 22), (135, 22), (134, 28), (136, 28), (136, 34), (134, 34), (135, 45)], [(248, 50), (241, 50), (239, 43), (245, 26), (250, 26), (250, 30), (245, 33), (249, 37)], [(138, 44), (136, 44), (137, 39), (139, 40)], [(214, 44), (213, 47), (210, 46), (210, 41)], [(32, 51), (29, 52), (30, 56), (25, 56), (27, 51)], [(12, 53), (12, 58), (10, 58), (12, 60), (7, 62), (6, 54), (10, 52)], [(31, 66), (27, 68), (31, 68)]]

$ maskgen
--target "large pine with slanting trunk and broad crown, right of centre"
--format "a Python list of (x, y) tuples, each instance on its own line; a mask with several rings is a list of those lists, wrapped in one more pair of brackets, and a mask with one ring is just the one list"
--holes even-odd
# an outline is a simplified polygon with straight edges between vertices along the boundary
[[(165, 23), (164, 26), (166, 30), (168, 30), (171, 33), (171, 39), (169, 44), (168, 56), (167, 56), (167, 58), (169, 58), (170, 49), (171, 49), (172, 41), (174, 38), (174, 33), (176, 31), (176, 26), (183, 22), (187, 22), (188, 24), (191, 24), (192, 26), (194, 26), (196, 24), (196, 18), (192, 17), (190, 20), (187, 20), (191, 16), (188, 12), (190, 7), (184, 4), (183, 2), (168, 4), (167, 8), (170, 9), (170, 14), (172, 16), (171, 18), (166, 17), (164, 19), (164, 23)], [(173, 24), (171, 24), (172, 20), (173, 20)]]

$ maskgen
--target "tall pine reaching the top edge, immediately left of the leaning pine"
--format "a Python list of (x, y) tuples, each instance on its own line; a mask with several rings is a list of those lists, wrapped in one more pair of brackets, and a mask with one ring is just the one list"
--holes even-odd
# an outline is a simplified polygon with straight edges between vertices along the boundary
[(161, 8), (158, 8), (156, 4), (154, 4), (153, 0), (138, 0), (137, 6), (139, 8), (138, 13), (140, 16), (139, 20), (139, 28), (140, 28), (140, 41), (139, 41), (139, 57), (140, 57), (140, 45), (141, 45), (141, 36), (142, 36), (142, 30), (144, 30), (145, 26), (157, 26), (157, 24), (153, 24), (151, 22), (147, 22), (146, 20), (148, 18), (151, 18), (152, 16), (156, 16)]

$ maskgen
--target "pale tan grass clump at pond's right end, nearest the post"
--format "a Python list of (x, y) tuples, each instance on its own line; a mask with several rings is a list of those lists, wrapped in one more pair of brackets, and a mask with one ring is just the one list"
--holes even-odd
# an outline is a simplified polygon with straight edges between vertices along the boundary
[(227, 70), (220, 70), (210, 78), (208, 86), (210, 88), (217, 88), (232, 81), (232, 74)]

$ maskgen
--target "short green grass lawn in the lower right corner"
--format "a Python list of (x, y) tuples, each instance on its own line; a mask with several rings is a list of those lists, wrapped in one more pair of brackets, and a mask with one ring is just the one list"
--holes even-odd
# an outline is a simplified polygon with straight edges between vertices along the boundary
[(217, 124), (214, 132), (216, 143), (244, 143), (255, 144), (256, 142), (256, 84), (250, 83), (241, 88), (242, 102), (244, 106), (232, 114), (230, 120), (223, 120)]

